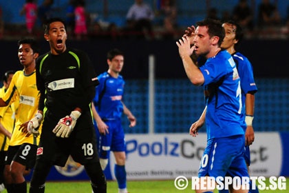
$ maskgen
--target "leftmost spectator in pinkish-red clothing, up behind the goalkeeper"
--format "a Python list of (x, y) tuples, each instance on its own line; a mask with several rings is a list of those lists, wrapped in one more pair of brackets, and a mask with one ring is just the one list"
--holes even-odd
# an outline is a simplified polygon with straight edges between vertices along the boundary
[(26, 0), (20, 11), (20, 15), (23, 14), (25, 14), (27, 31), (29, 34), (32, 34), (37, 19), (37, 4), (34, 3), (34, 0)]

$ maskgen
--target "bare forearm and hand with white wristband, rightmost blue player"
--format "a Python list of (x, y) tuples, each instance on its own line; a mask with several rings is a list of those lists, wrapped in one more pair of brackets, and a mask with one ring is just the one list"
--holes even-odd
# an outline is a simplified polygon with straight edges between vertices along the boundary
[(254, 107), (255, 107), (255, 95), (253, 92), (248, 92), (246, 94), (246, 134), (245, 134), (245, 145), (251, 145), (255, 139), (254, 130), (253, 130), (253, 117), (254, 117)]

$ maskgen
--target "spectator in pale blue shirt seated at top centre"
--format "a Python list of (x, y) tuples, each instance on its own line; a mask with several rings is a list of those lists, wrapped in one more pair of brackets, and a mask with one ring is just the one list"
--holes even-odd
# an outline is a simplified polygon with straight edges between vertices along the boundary
[(135, 0), (135, 3), (129, 8), (127, 12), (128, 23), (131, 22), (133, 29), (138, 34), (138, 37), (144, 37), (146, 31), (150, 37), (153, 37), (153, 27), (151, 21), (154, 18), (151, 6), (144, 3), (143, 0)]

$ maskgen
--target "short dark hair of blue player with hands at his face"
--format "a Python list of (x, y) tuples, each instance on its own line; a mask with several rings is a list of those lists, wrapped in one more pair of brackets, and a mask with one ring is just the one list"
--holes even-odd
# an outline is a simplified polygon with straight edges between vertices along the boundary
[(204, 19), (202, 21), (197, 21), (196, 24), (197, 26), (206, 26), (210, 37), (219, 37), (218, 45), (221, 46), (226, 34), (221, 21), (216, 19)]

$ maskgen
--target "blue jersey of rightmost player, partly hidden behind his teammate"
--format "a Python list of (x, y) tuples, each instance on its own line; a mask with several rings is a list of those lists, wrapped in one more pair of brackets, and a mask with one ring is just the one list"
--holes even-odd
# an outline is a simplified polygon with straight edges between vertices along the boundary
[(257, 92), (257, 86), (255, 84), (254, 76), (253, 76), (253, 68), (244, 55), (239, 52), (232, 54), (232, 57), (237, 65), (237, 70), (239, 73), (239, 77), (241, 80), (241, 90), (242, 90), (242, 116), (245, 121), (246, 116), (246, 108), (245, 108), (245, 101), (246, 101), (246, 94), (248, 92)]

